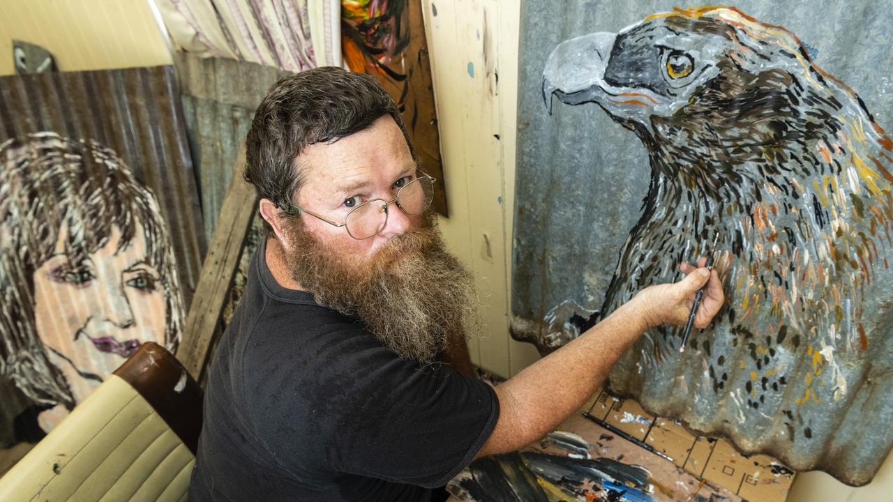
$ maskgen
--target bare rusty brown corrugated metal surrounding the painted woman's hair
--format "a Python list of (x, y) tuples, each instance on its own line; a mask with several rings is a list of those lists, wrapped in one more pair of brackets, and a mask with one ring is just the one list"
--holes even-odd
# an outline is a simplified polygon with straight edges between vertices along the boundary
[(120, 155), (161, 206), (189, 305), (205, 239), (172, 66), (0, 77), (0, 127), (0, 141), (50, 130)]

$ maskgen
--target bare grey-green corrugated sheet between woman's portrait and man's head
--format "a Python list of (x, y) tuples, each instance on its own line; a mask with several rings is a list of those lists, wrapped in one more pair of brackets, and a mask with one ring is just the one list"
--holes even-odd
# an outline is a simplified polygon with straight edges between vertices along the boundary
[(267, 90), (288, 71), (226, 58), (174, 54), (189, 147), (210, 241), (230, 186), (238, 147)]

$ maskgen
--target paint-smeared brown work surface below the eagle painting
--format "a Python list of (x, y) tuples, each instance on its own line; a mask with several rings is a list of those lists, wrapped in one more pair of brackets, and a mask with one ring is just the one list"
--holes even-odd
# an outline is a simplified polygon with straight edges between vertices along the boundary
[(597, 392), (538, 443), (478, 460), (450, 481), (451, 500), (680, 501), (787, 497), (793, 473), (742, 456), (722, 439), (692, 436), (631, 399)]

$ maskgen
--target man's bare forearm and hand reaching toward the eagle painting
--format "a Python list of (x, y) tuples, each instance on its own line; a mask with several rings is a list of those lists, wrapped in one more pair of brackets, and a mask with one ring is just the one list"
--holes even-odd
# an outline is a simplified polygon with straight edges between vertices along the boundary
[(475, 458), (514, 451), (552, 431), (580, 409), (645, 330), (688, 321), (693, 296), (706, 284), (695, 319), (698, 328), (705, 327), (722, 306), (720, 280), (716, 272), (705, 275), (707, 269), (680, 268), (689, 273), (684, 280), (644, 289), (579, 338), (499, 385), (499, 420)]

